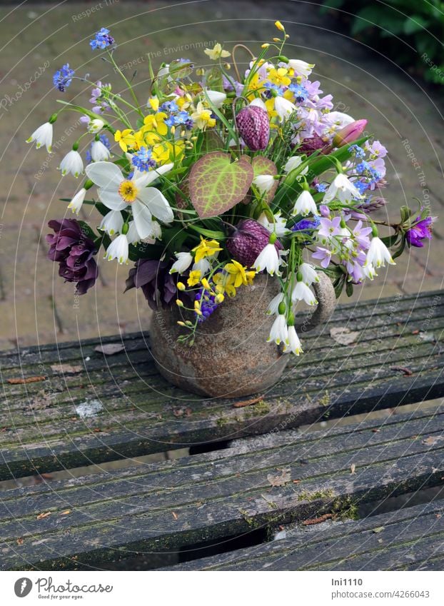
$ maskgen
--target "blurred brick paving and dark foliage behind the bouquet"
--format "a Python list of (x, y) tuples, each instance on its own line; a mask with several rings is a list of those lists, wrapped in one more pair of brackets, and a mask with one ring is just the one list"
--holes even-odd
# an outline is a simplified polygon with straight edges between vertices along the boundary
[[(66, 112), (55, 125), (54, 153), (25, 143), (58, 107), (56, 99), (88, 104), (87, 87), (74, 81), (65, 94), (54, 90), (52, 75), (69, 63), (77, 75), (111, 82), (122, 90), (109, 64), (91, 51), (89, 39), (103, 26), (118, 44), (116, 57), (138, 96), (148, 97), (148, 56), (161, 61), (188, 57), (206, 64), (203, 44), (243, 43), (257, 51), (276, 35), (280, 19), (290, 34), (286, 54), (316, 64), (314, 75), (335, 109), (355, 119), (388, 148), (388, 205), (379, 218), (398, 218), (407, 203), (431, 206), (433, 241), (413, 248), (388, 273), (352, 301), (440, 288), (443, 281), (444, 148), (442, 91), (443, 14), (440, 3), (406, 0), (350, 3), (262, 0), (190, 2), (92, 0), (0, 3), (0, 348), (76, 340), (148, 328), (143, 296), (123, 296), (129, 266), (100, 261), (94, 291), (74, 296), (57, 266), (46, 260), (44, 236), (51, 218), (71, 216), (66, 202), (81, 186), (56, 170), (74, 140), (84, 132), (78, 115)], [(393, 10), (387, 8), (393, 5)], [(385, 7), (385, 8), (384, 8)], [(431, 7), (431, 8), (430, 8)], [(376, 10), (375, 10), (376, 9)], [(364, 12), (363, 12), (364, 11)], [(365, 12), (366, 11), (366, 12)], [(356, 16), (358, 14), (358, 16)], [(438, 22), (437, 22), (438, 19)], [(437, 44), (438, 41), (438, 44)], [(246, 57), (239, 57), (240, 63)], [(134, 72), (137, 72), (134, 74)], [(70, 134), (71, 133), (71, 134)], [(89, 144), (86, 137), (82, 139)], [(86, 214), (84, 213), (84, 218)], [(94, 217), (91, 218), (94, 221)], [(345, 295), (341, 301), (347, 301)]]

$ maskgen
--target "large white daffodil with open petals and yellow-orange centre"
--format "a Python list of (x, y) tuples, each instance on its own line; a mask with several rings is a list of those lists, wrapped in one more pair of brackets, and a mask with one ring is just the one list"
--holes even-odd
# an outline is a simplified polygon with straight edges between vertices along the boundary
[(173, 211), (168, 200), (155, 187), (147, 187), (159, 176), (173, 168), (173, 163), (164, 164), (156, 171), (141, 172), (137, 169), (131, 179), (123, 177), (120, 168), (112, 162), (95, 162), (86, 166), (86, 174), (99, 187), (101, 202), (111, 211), (133, 213), (139, 238), (161, 235), (161, 229), (153, 216), (163, 223), (173, 221)]

